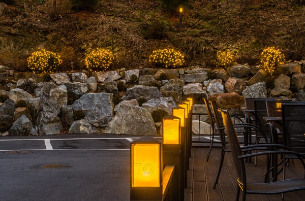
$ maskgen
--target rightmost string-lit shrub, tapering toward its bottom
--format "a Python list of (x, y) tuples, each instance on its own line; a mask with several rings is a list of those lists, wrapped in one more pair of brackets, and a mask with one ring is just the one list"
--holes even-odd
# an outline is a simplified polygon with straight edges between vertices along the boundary
[(267, 47), (261, 53), (261, 69), (267, 74), (273, 75), (277, 66), (284, 59), (284, 54), (281, 53), (280, 49), (275, 47)]

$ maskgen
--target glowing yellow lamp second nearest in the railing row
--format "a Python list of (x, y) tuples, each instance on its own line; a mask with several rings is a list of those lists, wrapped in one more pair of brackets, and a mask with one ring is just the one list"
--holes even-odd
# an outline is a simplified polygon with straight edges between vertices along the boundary
[(180, 144), (180, 119), (173, 115), (162, 119), (163, 144)]

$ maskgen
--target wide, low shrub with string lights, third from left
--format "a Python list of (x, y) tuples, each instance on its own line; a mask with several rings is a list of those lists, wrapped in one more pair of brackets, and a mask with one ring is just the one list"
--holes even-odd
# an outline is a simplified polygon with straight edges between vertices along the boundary
[(174, 49), (159, 49), (149, 55), (149, 62), (157, 67), (177, 68), (185, 64), (185, 56)]

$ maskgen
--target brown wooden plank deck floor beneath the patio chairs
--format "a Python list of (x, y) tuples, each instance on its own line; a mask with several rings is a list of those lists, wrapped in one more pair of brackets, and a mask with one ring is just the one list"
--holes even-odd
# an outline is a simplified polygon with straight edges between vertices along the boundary
[[(206, 161), (208, 148), (192, 147), (190, 170), (188, 171), (188, 188), (185, 189), (185, 200), (235, 200), (236, 196), (236, 171), (230, 153), (226, 153), (225, 162), (221, 171), (216, 189), (213, 189), (214, 181), (220, 163), (220, 149), (212, 149), (209, 160)], [(253, 160), (254, 161), (254, 160)], [(263, 182), (265, 174), (265, 158), (257, 158), (257, 166), (254, 162), (247, 162), (247, 179), (249, 182)], [(279, 176), (279, 179), (281, 179)], [(294, 160), (287, 168), (286, 179), (304, 178), (304, 169), (301, 163)], [(304, 191), (285, 193), (285, 200), (304, 200)], [(240, 198), (241, 199), (241, 198)], [(251, 200), (281, 200), (281, 194), (258, 195), (247, 194), (247, 201)]]

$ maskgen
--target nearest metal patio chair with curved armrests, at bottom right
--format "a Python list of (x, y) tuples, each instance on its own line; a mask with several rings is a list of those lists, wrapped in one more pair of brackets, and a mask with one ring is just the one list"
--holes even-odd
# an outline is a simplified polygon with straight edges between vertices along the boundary
[[(225, 129), (228, 136), (229, 146), (231, 150), (231, 155), (233, 158), (233, 162), (235, 164), (236, 172), (237, 172), (237, 192), (236, 192), (236, 200), (239, 200), (240, 190), (242, 192), (242, 200), (246, 200), (246, 194), (280, 194), (285, 192), (291, 192), (296, 190), (305, 190), (305, 177), (302, 179), (284, 179), (277, 182), (270, 183), (250, 183), (247, 182), (247, 175), (245, 169), (245, 158), (259, 155), (268, 155), (268, 154), (293, 154), (295, 155), (302, 163), (305, 169), (305, 163), (303, 159), (305, 158), (303, 155), (287, 150), (277, 150), (277, 151), (263, 151), (252, 154), (242, 154), (242, 150), (240, 148), (235, 129), (233, 127), (233, 123), (230, 117), (228, 110), (220, 110), (222, 113)], [(268, 147), (279, 147), (281, 149), (287, 148), (284, 145), (275, 145), (275, 144), (261, 144), (261, 145), (252, 145), (249, 147), (259, 147), (259, 146), (268, 146)], [(268, 160), (267, 160), (268, 163)]]

